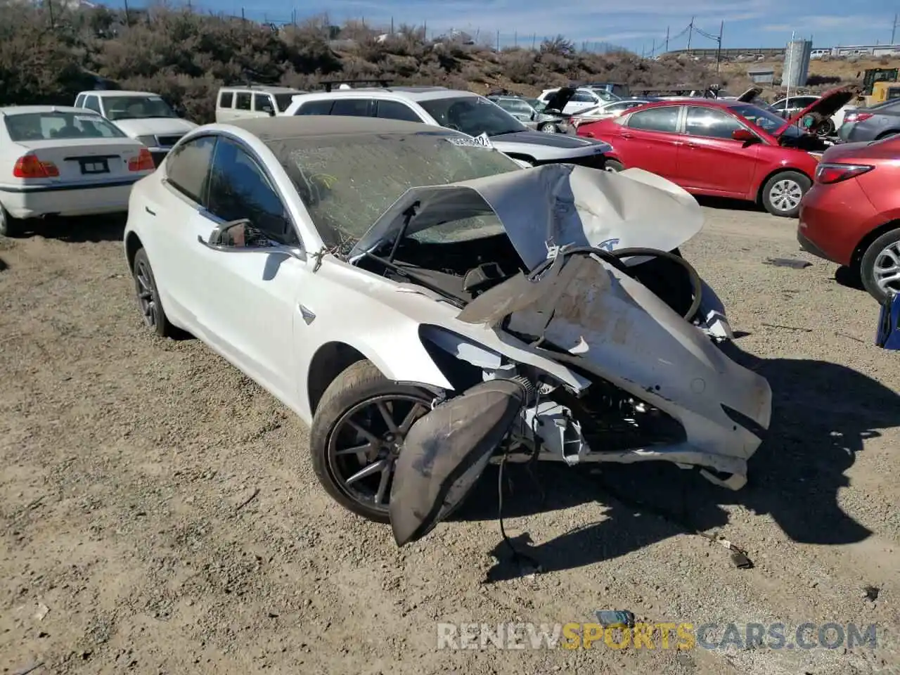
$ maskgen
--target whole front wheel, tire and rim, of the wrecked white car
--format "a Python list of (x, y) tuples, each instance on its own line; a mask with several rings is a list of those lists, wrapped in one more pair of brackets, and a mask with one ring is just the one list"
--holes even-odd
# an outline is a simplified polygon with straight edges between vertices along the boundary
[(371, 361), (339, 374), (322, 395), (310, 432), (312, 469), (332, 499), (363, 518), (390, 522), (394, 464), (434, 398), (387, 379)]

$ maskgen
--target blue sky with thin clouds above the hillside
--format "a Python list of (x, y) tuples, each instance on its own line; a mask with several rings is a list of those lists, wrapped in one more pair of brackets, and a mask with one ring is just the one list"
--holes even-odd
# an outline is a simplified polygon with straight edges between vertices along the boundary
[[(891, 40), (894, 14), (900, 3), (888, 0), (319, 0), (296, 8), (278, 0), (199, 0), (204, 10), (240, 14), (274, 23), (320, 12), (332, 23), (365, 17), (366, 23), (389, 25), (428, 23), (429, 35), (458, 28), (479, 40), (495, 40), (500, 31), (502, 45), (511, 44), (518, 33), (519, 44), (530, 44), (531, 35), (562, 33), (576, 42), (611, 42), (640, 52), (656, 41), (658, 51), (666, 27), (674, 37), (686, 28), (691, 16), (702, 31), (716, 35), (725, 22), (724, 47), (775, 47), (797, 37), (813, 37), (815, 47), (837, 44), (869, 44)], [(139, 4), (138, 0), (131, 0)], [(121, 4), (112, 0), (111, 4)], [(853, 6), (856, 6), (854, 11)], [(197, 6), (197, 3), (194, 3)], [(687, 33), (670, 41), (671, 49), (687, 46)], [(897, 40), (900, 41), (900, 31)], [(714, 48), (716, 42), (697, 33), (694, 47)]]

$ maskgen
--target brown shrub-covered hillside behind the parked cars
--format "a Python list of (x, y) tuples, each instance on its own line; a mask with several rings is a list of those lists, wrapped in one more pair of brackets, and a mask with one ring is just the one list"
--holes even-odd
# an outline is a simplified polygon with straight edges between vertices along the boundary
[[(52, 10), (52, 12), (50, 11)], [(253, 81), (315, 89), (321, 80), (386, 78), (396, 85), (445, 85), (520, 94), (570, 80), (667, 86), (719, 83), (702, 63), (626, 50), (576, 49), (563, 36), (537, 49), (497, 51), (465, 40), (426, 40), (401, 26), (390, 35), (327, 16), (274, 26), (165, 7), (146, 11), (0, 4), (0, 105), (72, 104), (110, 80), (157, 92), (194, 121), (212, 121), (221, 85)]]

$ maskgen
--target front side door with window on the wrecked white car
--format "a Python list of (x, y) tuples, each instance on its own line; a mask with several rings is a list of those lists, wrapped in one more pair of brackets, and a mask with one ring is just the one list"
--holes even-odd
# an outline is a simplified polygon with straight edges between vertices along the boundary
[(267, 251), (249, 240), (221, 249), (206, 243), (221, 223), (247, 219), (264, 234), (301, 251), (297, 229), (274, 185), (255, 153), (220, 137), (206, 208), (198, 214), (192, 260), (202, 277), (196, 291), (202, 320), (215, 347), (276, 397), (295, 405), (299, 345), (293, 328), (301, 318), (300, 293), (311, 282), (308, 261), (281, 249)]

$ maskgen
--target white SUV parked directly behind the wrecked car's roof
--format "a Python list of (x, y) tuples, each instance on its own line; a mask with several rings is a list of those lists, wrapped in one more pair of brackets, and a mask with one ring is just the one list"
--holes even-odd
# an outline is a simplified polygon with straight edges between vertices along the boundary
[(293, 97), (284, 115), (351, 115), (419, 121), (470, 136), (482, 134), (500, 152), (531, 166), (565, 162), (603, 168), (608, 143), (562, 133), (541, 133), (484, 96), (444, 86), (338, 89)]

